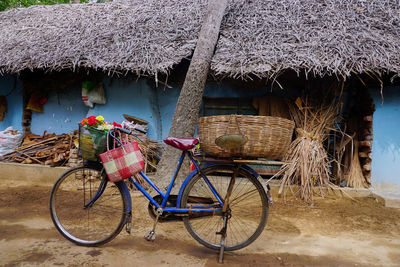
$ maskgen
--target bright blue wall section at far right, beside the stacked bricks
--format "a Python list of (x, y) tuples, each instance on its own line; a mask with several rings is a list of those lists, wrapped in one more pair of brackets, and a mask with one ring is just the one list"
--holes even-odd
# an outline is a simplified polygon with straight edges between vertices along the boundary
[(400, 188), (400, 86), (371, 89), (375, 113), (373, 119), (372, 183)]

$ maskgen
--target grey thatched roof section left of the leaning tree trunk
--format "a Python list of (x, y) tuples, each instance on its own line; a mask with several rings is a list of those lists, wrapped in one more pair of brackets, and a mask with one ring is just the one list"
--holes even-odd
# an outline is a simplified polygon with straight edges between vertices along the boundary
[(165, 72), (196, 45), (204, 0), (32, 6), (0, 13), (0, 72)]

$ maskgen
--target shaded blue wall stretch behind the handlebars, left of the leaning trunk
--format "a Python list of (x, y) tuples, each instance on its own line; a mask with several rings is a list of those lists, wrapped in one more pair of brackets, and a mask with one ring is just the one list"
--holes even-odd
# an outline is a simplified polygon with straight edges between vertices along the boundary
[(179, 89), (163, 90), (144, 79), (136, 82), (123, 78), (104, 79), (103, 87), (107, 103), (95, 104), (93, 109), (81, 101), (80, 87), (58, 95), (52, 93), (44, 105), (44, 113), (32, 113), (32, 132), (68, 133), (77, 129), (78, 123), (87, 116), (102, 115), (109, 122), (121, 123), (125, 120), (122, 115), (129, 114), (149, 122), (149, 137), (161, 140), (168, 135)]

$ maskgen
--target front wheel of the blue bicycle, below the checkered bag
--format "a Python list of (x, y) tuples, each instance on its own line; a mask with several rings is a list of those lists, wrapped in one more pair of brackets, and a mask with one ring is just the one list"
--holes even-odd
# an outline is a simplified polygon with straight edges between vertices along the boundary
[(126, 219), (121, 183), (108, 182), (101, 168), (77, 167), (65, 172), (50, 195), (50, 214), (57, 230), (81, 246), (111, 241)]

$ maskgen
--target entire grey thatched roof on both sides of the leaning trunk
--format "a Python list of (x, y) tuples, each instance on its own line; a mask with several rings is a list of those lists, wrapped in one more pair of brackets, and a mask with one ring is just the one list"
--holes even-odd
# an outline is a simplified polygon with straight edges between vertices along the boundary
[[(0, 13), (0, 72), (167, 72), (192, 54), (207, 0), (120, 0)], [(233, 0), (212, 70), (270, 77), (400, 74), (398, 0)]]

